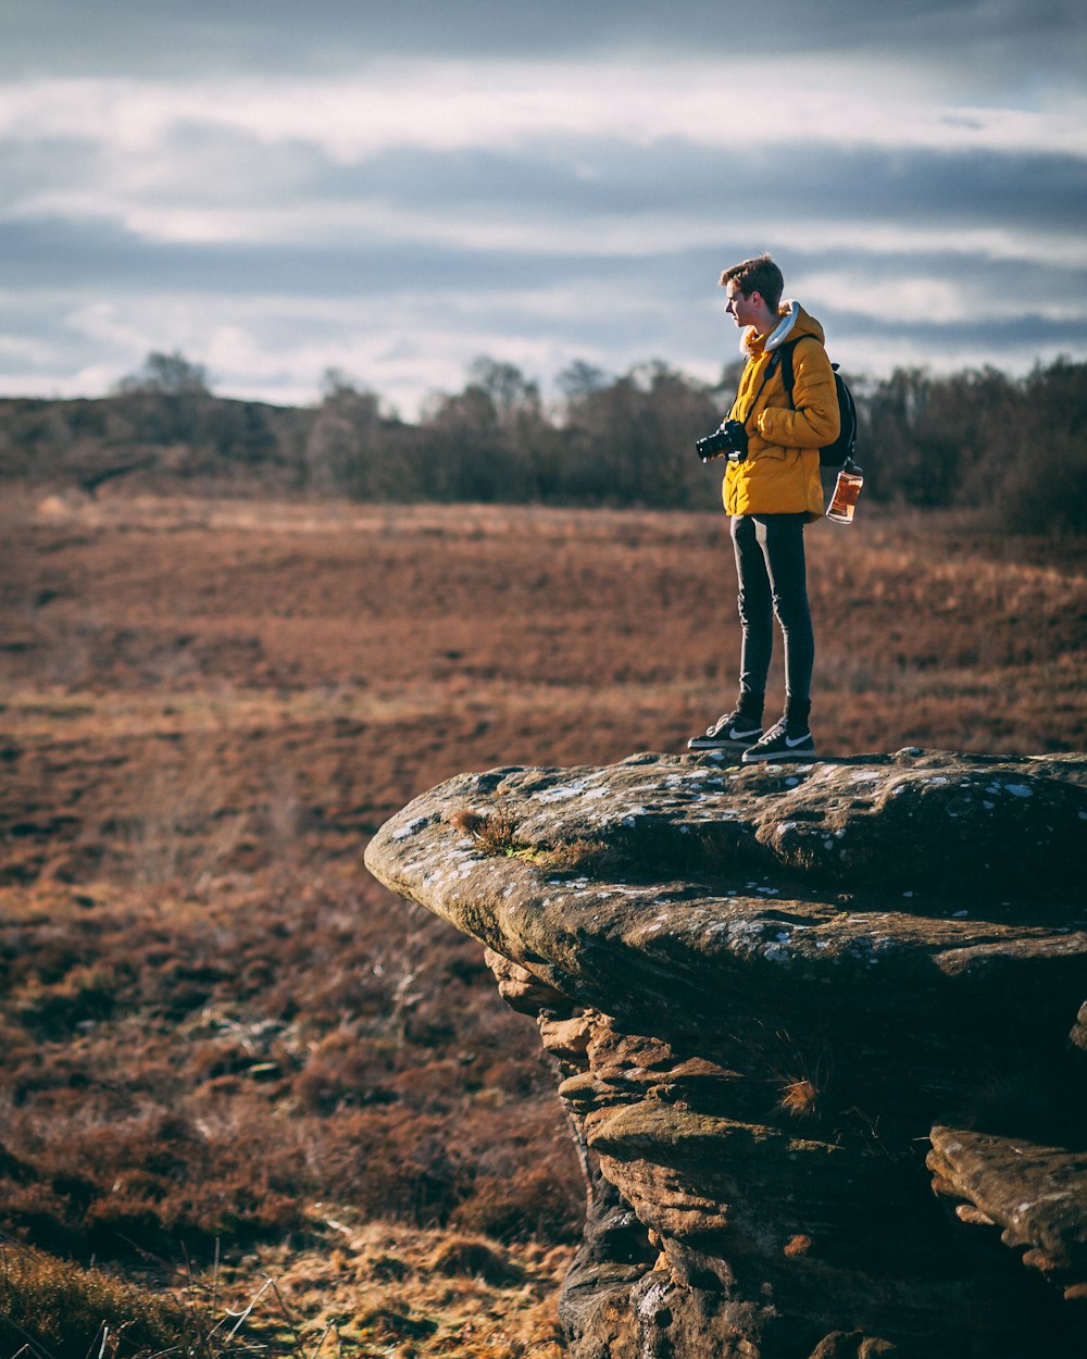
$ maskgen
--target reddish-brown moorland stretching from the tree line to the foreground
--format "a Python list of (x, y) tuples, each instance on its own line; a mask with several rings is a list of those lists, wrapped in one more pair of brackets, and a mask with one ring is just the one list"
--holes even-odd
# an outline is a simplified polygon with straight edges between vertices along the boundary
[[(682, 749), (732, 697), (726, 520), (1, 514), (0, 1354), (82, 1359), (107, 1301), (43, 1317), (105, 1269), (164, 1309), (118, 1294), (121, 1354), (234, 1352), (264, 1288), (230, 1345), (557, 1355), (583, 1190), (535, 1031), (363, 848), (463, 769)], [(1083, 540), (808, 541), (822, 753), (1084, 747)]]

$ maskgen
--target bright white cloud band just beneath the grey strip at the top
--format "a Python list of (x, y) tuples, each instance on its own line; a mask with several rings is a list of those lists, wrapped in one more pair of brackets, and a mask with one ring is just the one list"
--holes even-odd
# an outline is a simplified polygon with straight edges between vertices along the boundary
[(178, 128), (303, 141), (351, 162), (386, 148), (515, 148), (531, 137), (669, 137), (741, 145), (838, 145), (1083, 152), (1080, 92), (972, 103), (962, 86), (935, 99), (898, 53), (776, 57), (773, 98), (721, 80), (707, 57), (564, 64), (398, 58), (336, 79), (29, 79), (0, 88), (14, 141), (90, 137), (154, 154)]

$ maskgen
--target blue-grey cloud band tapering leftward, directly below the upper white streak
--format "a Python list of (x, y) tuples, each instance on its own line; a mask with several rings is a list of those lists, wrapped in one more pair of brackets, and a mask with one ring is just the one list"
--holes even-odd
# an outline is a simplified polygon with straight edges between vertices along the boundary
[(591, 230), (598, 213), (671, 211), (701, 220), (800, 215), (813, 222), (1034, 226), (1079, 235), (1087, 159), (1037, 151), (832, 144), (721, 151), (681, 139), (649, 147), (546, 139), (518, 151), (397, 148), (349, 167), (326, 163), (308, 186), (333, 198), (376, 198), (412, 211), (492, 209), (495, 220), (541, 211), (568, 215), (582, 230)]

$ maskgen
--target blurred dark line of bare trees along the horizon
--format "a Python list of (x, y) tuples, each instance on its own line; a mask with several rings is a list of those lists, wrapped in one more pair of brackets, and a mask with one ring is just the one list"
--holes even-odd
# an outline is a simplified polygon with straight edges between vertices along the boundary
[[(705, 508), (720, 465), (694, 440), (728, 406), (716, 383), (663, 363), (558, 375), (561, 398), (508, 363), (477, 359), (418, 421), (329, 372), (318, 405), (215, 395), (179, 353), (148, 356), (101, 400), (0, 400), (0, 477), (39, 485), (319, 493), (360, 501), (515, 501)], [(1087, 363), (1024, 378), (995, 368), (898, 370), (857, 382), (857, 458), (871, 501), (970, 507), (1022, 530), (1087, 531)]]

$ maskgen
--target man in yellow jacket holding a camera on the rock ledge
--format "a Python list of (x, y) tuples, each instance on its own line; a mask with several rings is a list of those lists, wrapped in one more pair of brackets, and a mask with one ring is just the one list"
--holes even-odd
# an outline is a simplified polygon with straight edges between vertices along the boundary
[[(807, 602), (804, 525), (823, 512), (819, 448), (838, 435), (834, 371), (823, 330), (796, 302), (781, 303), (784, 279), (766, 255), (726, 269), (726, 313), (743, 332), (747, 366), (721, 421), (728, 463), (721, 499), (731, 515), (739, 580), (742, 652), (736, 707), (690, 750), (743, 752), (743, 764), (815, 754), (808, 713), (815, 643)], [(792, 398), (780, 347), (792, 349)], [(764, 730), (773, 618), (785, 643), (785, 711)]]

